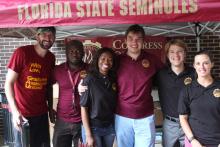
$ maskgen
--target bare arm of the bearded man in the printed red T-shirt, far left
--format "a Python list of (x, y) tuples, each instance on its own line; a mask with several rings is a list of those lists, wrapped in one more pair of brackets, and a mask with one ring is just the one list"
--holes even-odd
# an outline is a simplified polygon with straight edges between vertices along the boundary
[(13, 124), (17, 130), (20, 130), (21, 123), (25, 120), (25, 118), (20, 114), (15, 101), (14, 83), (17, 80), (17, 78), (18, 73), (11, 69), (8, 69), (5, 81), (5, 94), (12, 112)]

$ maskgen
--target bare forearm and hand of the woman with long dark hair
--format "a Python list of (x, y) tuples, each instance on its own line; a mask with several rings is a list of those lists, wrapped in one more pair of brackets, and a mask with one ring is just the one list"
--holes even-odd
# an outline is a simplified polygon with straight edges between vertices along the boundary
[(83, 127), (86, 132), (86, 143), (88, 147), (94, 147), (95, 146), (95, 140), (92, 136), (91, 128), (89, 125), (89, 114), (88, 114), (88, 108), (81, 107), (81, 117), (82, 117), (82, 123)]

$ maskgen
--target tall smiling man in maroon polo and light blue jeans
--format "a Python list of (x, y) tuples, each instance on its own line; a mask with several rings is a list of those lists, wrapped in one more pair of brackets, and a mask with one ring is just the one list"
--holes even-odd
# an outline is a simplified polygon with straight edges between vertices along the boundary
[(142, 50), (144, 37), (141, 26), (130, 26), (125, 33), (127, 52), (119, 58), (115, 117), (118, 147), (153, 147), (155, 142), (151, 88), (161, 62)]

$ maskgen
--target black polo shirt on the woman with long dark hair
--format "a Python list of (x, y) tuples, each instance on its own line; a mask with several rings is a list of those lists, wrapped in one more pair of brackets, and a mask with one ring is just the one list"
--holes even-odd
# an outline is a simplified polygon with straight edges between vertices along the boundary
[(105, 127), (114, 123), (116, 82), (102, 75), (89, 74), (83, 85), (88, 85), (80, 98), (80, 105), (88, 107), (90, 125)]

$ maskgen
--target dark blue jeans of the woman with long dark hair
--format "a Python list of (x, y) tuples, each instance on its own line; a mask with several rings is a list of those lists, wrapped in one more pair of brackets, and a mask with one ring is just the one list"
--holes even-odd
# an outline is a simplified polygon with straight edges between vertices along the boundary
[[(112, 147), (115, 139), (114, 126), (108, 127), (91, 127), (93, 137), (95, 139), (96, 147)], [(86, 143), (86, 133), (82, 126), (82, 139)]]

